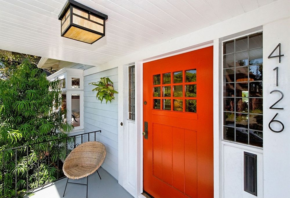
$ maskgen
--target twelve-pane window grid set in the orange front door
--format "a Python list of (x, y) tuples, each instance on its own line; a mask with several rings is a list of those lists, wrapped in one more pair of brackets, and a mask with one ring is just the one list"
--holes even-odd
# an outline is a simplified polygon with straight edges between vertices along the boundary
[(153, 109), (196, 113), (196, 69), (153, 75)]

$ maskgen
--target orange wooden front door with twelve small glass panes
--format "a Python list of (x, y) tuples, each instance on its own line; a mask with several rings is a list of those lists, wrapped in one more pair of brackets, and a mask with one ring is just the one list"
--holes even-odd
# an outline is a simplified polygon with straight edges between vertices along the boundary
[(212, 198), (213, 47), (144, 63), (143, 96), (144, 191)]

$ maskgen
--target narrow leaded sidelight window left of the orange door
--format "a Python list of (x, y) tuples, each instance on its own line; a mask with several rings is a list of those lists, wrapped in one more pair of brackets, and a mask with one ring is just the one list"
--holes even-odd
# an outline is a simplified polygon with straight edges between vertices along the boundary
[(135, 120), (135, 65), (129, 66), (128, 68), (129, 120)]

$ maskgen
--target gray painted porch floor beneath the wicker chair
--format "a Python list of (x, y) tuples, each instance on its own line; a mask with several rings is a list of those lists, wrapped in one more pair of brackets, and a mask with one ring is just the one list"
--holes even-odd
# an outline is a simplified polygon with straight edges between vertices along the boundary
[[(98, 169), (102, 180), (97, 172), (88, 177), (88, 198), (133, 198), (118, 181), (102, 167)], [(56, 181), (45, 187), (35, 190), (35, 195), (30, 198), (61, 198), (64, 194), (67, 178)], [(86, 183), (86, 178), (68, 180), (72, 182)], [(25, 196), (27, 198), (28, 196)], [(68, 184), (64, 198), (85, 198), (86, 186)]]

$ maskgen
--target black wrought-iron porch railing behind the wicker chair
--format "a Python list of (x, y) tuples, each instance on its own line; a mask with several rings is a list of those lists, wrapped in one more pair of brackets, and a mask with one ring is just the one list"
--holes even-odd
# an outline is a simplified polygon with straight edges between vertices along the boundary
[(97, 132), (101, 130), (1, 150), (0, 197), (23, 196), (64, 178), (66, 156), (79, 144), (96, 141)]

